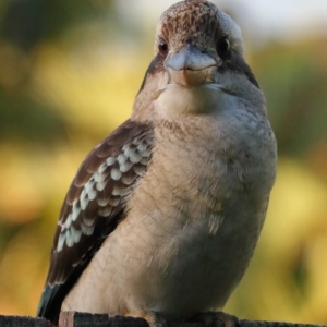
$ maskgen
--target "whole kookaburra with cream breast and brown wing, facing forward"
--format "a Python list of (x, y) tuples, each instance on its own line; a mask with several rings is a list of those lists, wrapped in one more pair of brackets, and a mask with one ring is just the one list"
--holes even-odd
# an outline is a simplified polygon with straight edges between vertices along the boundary
[(276, 179), (266, 100), (242, 33), (207, 0), (160, 16), (131, 117), (82, 162), (63, 202), (37, 315), (145, 318), (222, 310)]

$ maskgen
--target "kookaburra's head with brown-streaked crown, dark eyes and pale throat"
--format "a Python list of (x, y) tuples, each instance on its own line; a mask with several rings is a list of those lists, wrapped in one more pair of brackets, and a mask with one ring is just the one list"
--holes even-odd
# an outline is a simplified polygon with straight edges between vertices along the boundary
[(165, 116), (211, 113), (238, 100), (265, 112), (243, 56), (241, 29), (229, 15), (206, 0), (178, 2), (158, 22), (155, 58), (138, 96)]

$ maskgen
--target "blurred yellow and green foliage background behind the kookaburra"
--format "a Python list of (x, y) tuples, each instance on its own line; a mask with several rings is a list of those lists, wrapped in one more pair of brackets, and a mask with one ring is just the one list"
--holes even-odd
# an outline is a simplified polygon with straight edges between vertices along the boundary
[[(0, 1), (0, 314), (35, 315), (86, 154), (132, 108), (177, 1)], [(279, 144), (251, 266), (226, 311), (327, 324), (327, 1), (215, 1), (241, 26)]]

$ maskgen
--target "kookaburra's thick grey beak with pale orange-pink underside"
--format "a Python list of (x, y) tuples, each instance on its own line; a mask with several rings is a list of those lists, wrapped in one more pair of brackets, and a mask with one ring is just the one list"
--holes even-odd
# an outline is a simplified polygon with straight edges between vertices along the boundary
[(168, 84), (198, 86), (213, 83), (217, 72), (217, 61), (195, 45), (187, 44), (165, 61)]

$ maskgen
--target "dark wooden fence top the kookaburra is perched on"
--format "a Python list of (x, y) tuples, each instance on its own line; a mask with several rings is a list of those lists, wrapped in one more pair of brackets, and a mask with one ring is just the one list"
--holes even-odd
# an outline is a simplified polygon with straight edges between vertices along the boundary
[[(290, 324), (283, 322), (238, 320), (238, 327), (327, 327), (327, 325)], [(55, 327), (44, 318), (1, 316), (0, 327)], [(108, 316), (106, 314), (88, 314), (63, 312), (60, 314), (59, 327), (148, 327), (142, 318)], [(169, 323), (167, 327), (203, 327), (199, 323)], [(215, 322), (211, 327), (223, 327), (222, 322)]]

